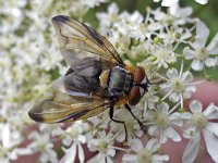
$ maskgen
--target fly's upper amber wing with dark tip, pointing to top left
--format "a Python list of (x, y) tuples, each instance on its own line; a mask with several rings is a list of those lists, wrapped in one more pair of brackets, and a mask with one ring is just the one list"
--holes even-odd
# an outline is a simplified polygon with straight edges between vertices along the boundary
[[(64, 15), (55, 16), (52, 24), (64, 60), (81, 75), (94, 76), (99, 68), (124, 64), (112, 45), (87, 25)], [(89, 53), (80, 54), (74, 49)]]

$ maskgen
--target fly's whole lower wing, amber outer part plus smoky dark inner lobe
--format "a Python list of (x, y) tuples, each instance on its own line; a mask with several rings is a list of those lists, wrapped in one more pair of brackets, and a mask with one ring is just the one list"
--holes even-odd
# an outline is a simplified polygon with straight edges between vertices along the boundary
[(50, 91), (28, 115), (36, 122), (72, 122), (97, 115), (111, 103), (108, 91), (99, 86), (98, 77), (72, 72), (55, 80)]

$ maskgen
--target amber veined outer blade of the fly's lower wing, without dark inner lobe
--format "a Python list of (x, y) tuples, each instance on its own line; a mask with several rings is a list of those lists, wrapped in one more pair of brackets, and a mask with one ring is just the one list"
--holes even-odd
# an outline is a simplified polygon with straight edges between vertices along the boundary
[(28, 112), (36, 122), (61, 123), (95, 116), (111, 105), (106, 99), (69, 96), (50, 91)]

